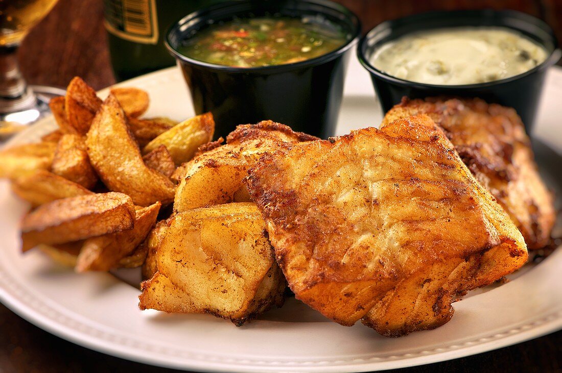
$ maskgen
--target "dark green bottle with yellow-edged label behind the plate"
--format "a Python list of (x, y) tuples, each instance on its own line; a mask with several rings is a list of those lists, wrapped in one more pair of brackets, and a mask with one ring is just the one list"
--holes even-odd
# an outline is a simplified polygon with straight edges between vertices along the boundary
[(221, 0), (104, 0), (105, 27), (115, 79), (174, 65), (166, 30), (181, 17)]

